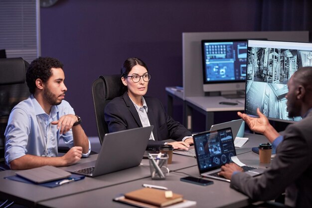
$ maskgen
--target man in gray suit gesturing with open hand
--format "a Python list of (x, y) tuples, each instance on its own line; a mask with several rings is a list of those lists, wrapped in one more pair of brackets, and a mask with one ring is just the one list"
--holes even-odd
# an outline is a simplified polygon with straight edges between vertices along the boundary
[(312, 67), (297, 70), (288, 82), (287, 111), (289, 117), (302, 120), (289, 125), (279, 134), (257, 109), (259, 118), (238, 115), (252, 131), (262, 133), (278, 145), (277, 155), (259, 177), (242, 173), (236, 164), (221, 167), (219, 175), (231, 180), (230, 187), (252, 200), (268, 201), (285, 195), (285, 205), (296, 208), (312, 207)]

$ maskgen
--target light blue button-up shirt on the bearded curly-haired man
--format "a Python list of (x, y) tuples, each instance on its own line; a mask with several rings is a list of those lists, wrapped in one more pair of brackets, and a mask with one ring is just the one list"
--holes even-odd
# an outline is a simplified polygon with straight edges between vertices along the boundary
[[(6, 164), (9, 165), (12, 160), (26, 154), (57, 157), (57, 146), (60, 139), (63, 139), (64, 143), (72, 148), (74, 146), (72, 130), (60, 134), (57, 125), (50, 124), (67, 114), (75, 115), (75, 112), (65, 100), (60, 105), (52, 106), (50, 115), (44, 112), (33, 95), (18, 103), (10, 113), (4, 132)], [(89, 152), (82, 156), (87, 157), (90, 151), (89, 141)]]

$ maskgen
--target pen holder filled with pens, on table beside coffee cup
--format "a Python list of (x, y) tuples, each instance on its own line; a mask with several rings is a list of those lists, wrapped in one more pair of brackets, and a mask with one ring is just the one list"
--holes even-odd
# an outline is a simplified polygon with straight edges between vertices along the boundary
[(165, 179), (169, 169), (167, 168), (167, 154), (149, 154), (152, 179)]

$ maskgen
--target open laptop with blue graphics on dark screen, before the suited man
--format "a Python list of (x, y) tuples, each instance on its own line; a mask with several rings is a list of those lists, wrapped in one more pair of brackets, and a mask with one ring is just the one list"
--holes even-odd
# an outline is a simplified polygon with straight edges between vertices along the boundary
[[(236, 156), (234, 139), (231, 128), (203, 132), (193, 136), (197, 166), (201, 176), (230, 182), (217, 175), (221, 166), (231, 162), (231, 157)], [(245, 173), (257, 176), (264, 169), (249, 166), (242, 167)]]

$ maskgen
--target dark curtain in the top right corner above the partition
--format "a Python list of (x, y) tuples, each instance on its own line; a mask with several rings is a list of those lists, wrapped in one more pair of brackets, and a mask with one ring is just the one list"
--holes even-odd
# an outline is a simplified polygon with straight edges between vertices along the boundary
[[(263, 0), (261, 30), (312, 30), (311, 0)], [(312, 33), (310, 32), (310, 41)]]

